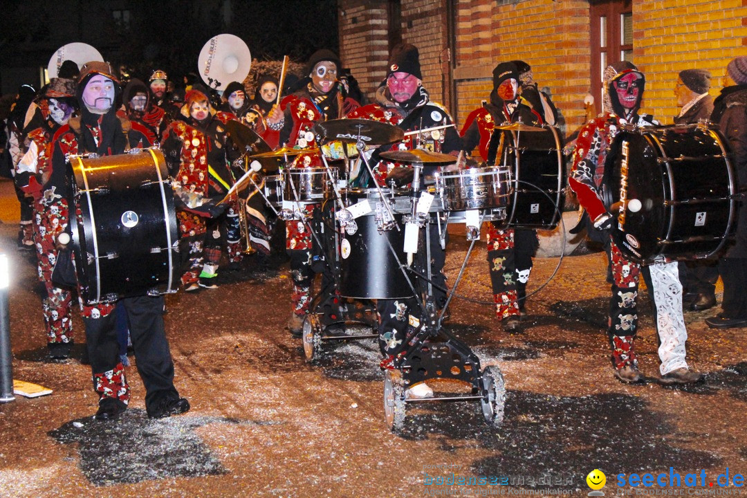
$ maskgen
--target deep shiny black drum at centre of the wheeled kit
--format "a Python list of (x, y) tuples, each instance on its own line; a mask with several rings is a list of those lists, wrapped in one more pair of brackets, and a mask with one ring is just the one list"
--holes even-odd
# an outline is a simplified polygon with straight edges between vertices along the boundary
[[(388, 192), (391, 196), (391, 192)], [(379, 193), (376, 189), (342, 189), (341, 195), (355, 204), (364, 199), (371, 203), (371, 211), (355, 220), (356, 231), (340, 235), (340, 295), (354, 299), (405, 299), (412, 297), (412, 289), (400, 269), (400, 261), (406, 261), (403, 252), (404, 230), (380, 230), (376, 213)], [(409, 197), (397, 196), (395, 199)], [(397, 205), (397, 202), (394, 202)], [(404, 202), (400, 205), (403, 207)], [(393, 210), (394, 211), (394, 210)], [(403, 214), (395, 211), (394, 220), (402, 225)], [(379, 220), (380, 221), (380, 220)], [(390, 249), (394, 249), (394, 257)], [(397, 261), (399, 258), (399, 261)]]

